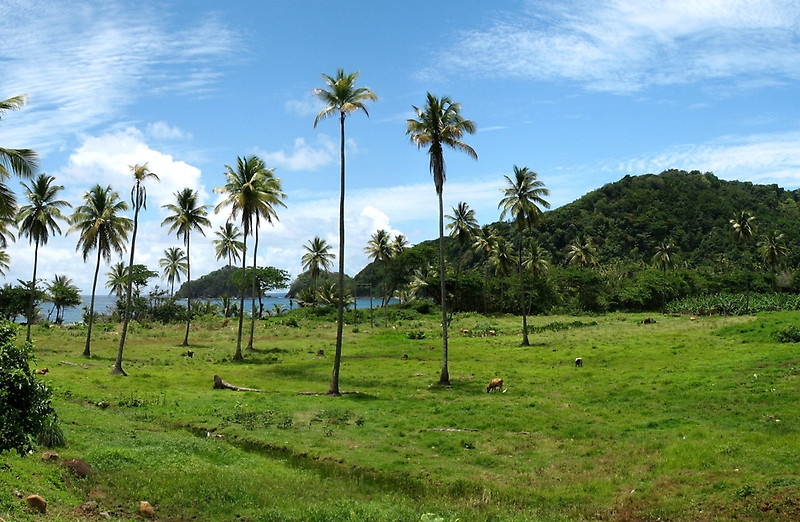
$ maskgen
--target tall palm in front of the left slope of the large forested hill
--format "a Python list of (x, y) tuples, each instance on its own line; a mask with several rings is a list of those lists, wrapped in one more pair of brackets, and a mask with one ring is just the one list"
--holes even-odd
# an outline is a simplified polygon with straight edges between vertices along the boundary
[(517, 268), (519, 270), (520, 308), (522, 309), (522, 346), (530, 346), (528, 342), (528, 315), (525, 312), (525, 278), (522, 271), (522, 250), (525, 245), (525, 232), (539, 222), (542, 209), (550, 208), (550, 203), (545, 201), (550, 191), (547, 190), (538, 178), (538, 174), (528, 167), (519, 168), (514, 165), (514, 177), (505, 176), (506, 188), (498, 208), (501, 208), (500, 219), (511, 216), (519, 232), (519, 253)]

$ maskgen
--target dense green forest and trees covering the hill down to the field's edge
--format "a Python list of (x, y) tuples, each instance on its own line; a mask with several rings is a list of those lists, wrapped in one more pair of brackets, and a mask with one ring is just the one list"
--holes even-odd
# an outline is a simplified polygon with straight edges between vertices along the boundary
[[(718, 308), (741, 311), (750, 309), (750, 292), (795, 292), (798, 201), (798, 191), (724, 181), (711, 173), (626, 176), (545, 213), (533, 227), (530, 235), (548, 262), (536, 277), (525, 275), (528, 309), (535, 314), (663, 311), (674, 300), (739, 293), (742, 307), (718, 303)], [(742, 213), (754, 217), (750, 241), (734, 236), (731, 220)], [(518, 311), (519, 230), (496, 222), (483, 231), (511, 258), (504, 265), (496, 245), (488, 252), (446, 238), (447, 292), (461, 311)], [(780, 255), (764, 257), (769, 240), (779, 243)], [(406, 298), (439, 299), (434, 243), (420, 243), (402, 256), (402, 262), (370, 264), (356, 282), (371, 285), (374, 295), (386, 280), (398, 297), (405, 290)]]

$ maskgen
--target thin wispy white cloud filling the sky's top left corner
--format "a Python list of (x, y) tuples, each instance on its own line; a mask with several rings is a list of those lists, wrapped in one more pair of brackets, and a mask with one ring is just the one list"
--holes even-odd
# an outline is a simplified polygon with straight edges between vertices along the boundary
[(0, 17), (0, 91), (30, 98), (0, 127), (0, 141), (42, 154), (143, 96), (205, 92), (218, 78), (211, 59), (229, 55), (235, 41), (213, 17), (175, 30), (171, 14), (153, 6), (12, 0), (0, 3)]

